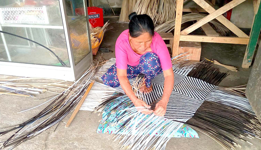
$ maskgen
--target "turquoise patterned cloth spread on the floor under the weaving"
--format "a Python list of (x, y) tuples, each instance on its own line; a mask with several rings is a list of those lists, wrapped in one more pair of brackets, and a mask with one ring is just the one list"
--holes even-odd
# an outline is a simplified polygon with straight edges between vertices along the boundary
[[(116, 106), (118, 106), (119, 104), (121, 104), (119, 106), (119, 108), (117, 109), (117, 111), (112, 112), (111, 110), (113, 108), (115, 108)], [(125, 122), (125, 120), (119, 122), (117, 125), (114, 126), (109, 126), (111, 125), (111, 122), (115, 119), (117, 119), (117, 116), (119, 116), (122, 112), (119, 112), (120, 110), (123, 109), (127, 109), (132, 107), (133, 104), (129, 101), (129, 98), (124, 98), (124, 97), (119, 97), (117, 99), (115, 99), (114, 102), (112, 102), (111, 104), (107, 105), (106, 108), (103, 110), (103, 116), (102, 116), (102, 120), (99, 124), (99, 127), (97, 129), (97, 133), (113, 133), (116, 130), (118, 130), (123, 123)], [(117, 114), (117, 115), (116, 115)], [(142, 123), (143, 121), (146, 120), (146, 118), (148, 118), (150, 115), (147, 115), (140, 123)], [(126, 124), (124, 127), (126, 127), (128, 124)], [(162, 127), (163, 129), (164, 127)], [(151, 131), (152, 133), (153, 131)], [(160, 136), (160, 135), (159, 135)], [(178, 129), (178, 131), (173, 135), (173, 137), (196, 137), (199, 138), (197, 132), (195, 130), (193, 130), (190, 126), (188, 125), (183, 125), (180, 129)]]

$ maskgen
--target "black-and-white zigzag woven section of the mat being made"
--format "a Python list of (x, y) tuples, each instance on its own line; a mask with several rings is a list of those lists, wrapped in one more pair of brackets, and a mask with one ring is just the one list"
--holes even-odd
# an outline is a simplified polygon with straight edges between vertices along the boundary
[[(153, 91), (142, 94), (144, 100), (152, 108), (155, 107), (163, 94), (164, 75), (161, 73), (152, 80)], [(174, 87), (169, 97), (167, 111), (168, 119), (183, 119), (193, 117), (196, 110), (204, 102), (208, 94), (215, 88), (200, 79), (192, 78), (175, 73)]]

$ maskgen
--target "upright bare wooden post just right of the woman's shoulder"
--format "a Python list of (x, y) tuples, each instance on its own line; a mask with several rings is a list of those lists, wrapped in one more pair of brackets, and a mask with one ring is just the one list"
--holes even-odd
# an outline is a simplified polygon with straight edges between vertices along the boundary
[(172, 57), (178, 55), (178, 46), (181, 30), (181, 19), (183, 10), (183, 0), (176, 0), (176, 20), (175, 20), (175, 30), (174, 30), (174, 40), (172, 48)]

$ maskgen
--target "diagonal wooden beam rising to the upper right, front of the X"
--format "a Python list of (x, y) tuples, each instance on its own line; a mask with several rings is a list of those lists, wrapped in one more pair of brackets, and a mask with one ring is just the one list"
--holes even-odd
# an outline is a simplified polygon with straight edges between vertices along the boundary
[(204, 17), (200, 21), (197, 21), (195, 24), (193, 24), (193, 25), (189, 26), (188, 28), (186, 28), (185, 30), (181, 31), (181, 34), (182, 35), (186, 35), (186, 34), (189, 34), (189, 33), (193, 32), (197, 28), (201, 27), (202, 25), (205, 25), (209, 21), (215, 19), (216, 17), (222, 15), (224, 12), (234, 8), (235, 6), (241, 4), (244, 1), (246, 1), (246, 0), (233, 0), (233, 1), (229, 2), (225, 6), (223, 6), (220, 9), (214, 11), (213, 13), (210, 13), (208, 16)]

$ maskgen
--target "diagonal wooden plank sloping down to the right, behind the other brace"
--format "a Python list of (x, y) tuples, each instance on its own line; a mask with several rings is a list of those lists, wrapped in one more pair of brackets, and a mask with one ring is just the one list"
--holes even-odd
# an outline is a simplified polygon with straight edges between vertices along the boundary
[[(210, 5), (208, 5), (208, 3), (205, 2), (204, 0), (193, 0), (193, 1), (196, 2), (197, 5), (205, 9), (208, 13), (213, 13), (215, 11), (215, 9)], [(238, 37), (248, 37), (243, 31), (241, 31), (236, 25), (232, 24), (232, 22), (230, 22), (223, 15), (216, 17), (216, 19), (220, 21), (228, 29), (230, 29), (233, 33), (235, 33)]]

